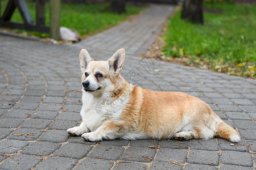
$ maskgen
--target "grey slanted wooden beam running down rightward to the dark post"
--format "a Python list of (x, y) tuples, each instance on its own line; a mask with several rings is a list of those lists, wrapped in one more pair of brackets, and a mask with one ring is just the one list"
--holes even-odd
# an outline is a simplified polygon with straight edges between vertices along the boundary
[(15, 0), (15, 4), (19, 9), (19, 13), (23, 18), (25, 24), (34, 24), (34, 19), (30, 14), (30, 10), (24, 0)]

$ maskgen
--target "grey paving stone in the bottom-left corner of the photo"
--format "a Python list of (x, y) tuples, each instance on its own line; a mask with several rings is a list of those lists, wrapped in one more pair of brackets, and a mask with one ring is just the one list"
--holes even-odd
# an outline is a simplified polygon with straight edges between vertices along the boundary
[(31, 169), (42, 160), (38, 156), (24, 154), (15, 155), (13, 158), (2, 163), (0, 169)]

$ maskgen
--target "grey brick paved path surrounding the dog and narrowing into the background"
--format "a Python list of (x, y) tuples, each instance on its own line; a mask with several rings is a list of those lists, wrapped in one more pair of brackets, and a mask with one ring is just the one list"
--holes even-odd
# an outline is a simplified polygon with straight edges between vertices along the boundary
[[(0, 169), (255, 169), (256, 80), (141, 60), (173, 10), (154, 5), (139, 18), (75, 45), (0, 35)], [(69, 137), (66, 130), (81, 118), (81, 48), (94, 59), (107, 59), (123, 47), (127, 81), (200, 97), (238, 129), (242, 141), (95, 143)]]

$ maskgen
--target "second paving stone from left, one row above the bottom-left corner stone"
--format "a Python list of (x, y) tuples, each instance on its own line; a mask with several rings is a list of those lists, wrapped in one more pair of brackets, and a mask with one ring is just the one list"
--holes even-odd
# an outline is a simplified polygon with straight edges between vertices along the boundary
[(59, 147), (59, 143), (36, 141), (28, 145), (26, 148), (24, 148), (24, 150), (21, 153), (27, 155), (47, 156), (49, 154), (52, 154)]

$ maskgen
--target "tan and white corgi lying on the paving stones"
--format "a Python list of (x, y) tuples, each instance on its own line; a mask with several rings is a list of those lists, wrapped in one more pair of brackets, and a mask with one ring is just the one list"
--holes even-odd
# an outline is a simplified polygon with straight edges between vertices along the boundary
[(155, 92), (133, 86), (120, 75), (125, 49), (108, 61), (80, 52), (82, 122), (67, 130), (86, 141), (113, 139), (210, 139), (240, 141), (204, 101), (181, 92)]

